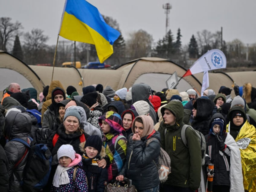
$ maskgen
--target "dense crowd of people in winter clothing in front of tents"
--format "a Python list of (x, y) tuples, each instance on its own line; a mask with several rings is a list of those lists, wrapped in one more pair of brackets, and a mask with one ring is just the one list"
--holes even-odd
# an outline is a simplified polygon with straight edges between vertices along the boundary
[[(213, 192), (256, 191), (256, 88), (250, 83), (206, 89), (202, 96), (193, 88), (156, 92), (144, 83), (82, 90), (65, 89), (59, 81), (41, 93), (18, 83), (4, 90), (1, 191), (25, 191), (29, 149), (16, 138), (45, 144), (51, 152), (41, 191), (103, 192), (107, 184), (128, 178), (139, 192), (204, 192), (208, 165), (214, 165)], [(204, 135), (205, 151), (195, 130)], [(157, 166), (161, 147), (171, 159), (163, 183)]]

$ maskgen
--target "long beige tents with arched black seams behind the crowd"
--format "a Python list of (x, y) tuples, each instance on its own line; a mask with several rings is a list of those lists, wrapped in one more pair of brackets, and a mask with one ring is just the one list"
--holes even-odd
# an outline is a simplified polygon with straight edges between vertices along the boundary
[[(114, 90), (117, 90), (123, 87), (130, 88), (133, 84), (142, 82), (150, 85), (155, 91), (161, 91), (162, 88), (166, 88), (166, 80), (175, 71), (178, 79), (186, 72), (186, 69), (169, 60), (143, 57), (127, 62), (115, 70), (55, 67), (53, 73), (53, 67), (27, 66), (6, 52), (0, 52), (0, 68), (1, 91), (11, 82), (18, 82), (21, 89), (32, 85), (39, 93), (45, 85), (50, 85), (53, 74), (53, 80), (59, 80), (64, 88), (69, 85), (74, 86), (79, 94), (82, 93), (82, 87), (99, 83), (104, 87), (110, 85)], [(12, 75), (11, 72), (16, 72), (16, 74)], [(200, 92), (202, 79), (203, 73), (186, 76), (180, 80), (176, 88), (181, 92), (194, 87)], [(242, 86), (245, 82), (251, 82), (254, 85), (256, 72), (209, 72), (209, 79), (209, 88), (218, 92), (220, 86), (224, 85), (232, 88), (234, 82), (239, 86)], [(232, 96), (235, 96), (233, 91)]]

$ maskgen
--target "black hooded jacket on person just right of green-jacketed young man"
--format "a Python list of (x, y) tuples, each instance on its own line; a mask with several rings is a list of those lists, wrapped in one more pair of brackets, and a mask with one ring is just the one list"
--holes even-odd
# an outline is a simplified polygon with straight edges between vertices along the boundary
[(209, 133), (209, 123), (214, 103), (210, 99), (198, 98), (193, 106), (197, 109), (197, 115), (191, 125), (195, 130), (200, 131), (203, 135), (207, 135)]

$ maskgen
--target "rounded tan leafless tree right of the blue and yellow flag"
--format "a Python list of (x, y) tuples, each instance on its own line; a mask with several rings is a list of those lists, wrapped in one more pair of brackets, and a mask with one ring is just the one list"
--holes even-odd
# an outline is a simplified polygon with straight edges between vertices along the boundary
[(127, 40), (127, 51), (131, 59), (150, 56), (153, 42), (152, 35), (140, 29), (129, 34)]

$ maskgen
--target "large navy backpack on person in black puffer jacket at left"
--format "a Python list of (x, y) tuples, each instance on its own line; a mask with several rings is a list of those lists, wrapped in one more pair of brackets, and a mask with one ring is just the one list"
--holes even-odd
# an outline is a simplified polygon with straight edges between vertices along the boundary
[(11, 141), (20, 142), (29, 149), (27, 163), (23, 172), (23, 181), (21, 181), (22, 189), (24, 191), (39, 191), (48, 182), (51, 172), (52, 154), (46, 145), (36, 144), (31, 137), (28, 138), (31, 141), (30, 144), (20, 138), (14, 138)]

